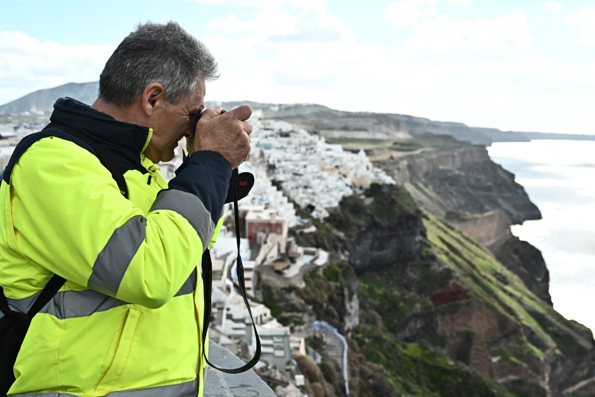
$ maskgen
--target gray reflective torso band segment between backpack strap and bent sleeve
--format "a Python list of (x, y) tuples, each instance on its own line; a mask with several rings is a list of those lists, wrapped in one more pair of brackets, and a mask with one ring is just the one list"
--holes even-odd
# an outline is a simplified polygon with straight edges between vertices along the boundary
[(40, 313), (51, 314), (64, 320), (65, 318), (86, 317), (93, 313), (106, 311), (118, 306), (128, 305), (92, 289), (82, 291), (61, 291), (40, 310)]

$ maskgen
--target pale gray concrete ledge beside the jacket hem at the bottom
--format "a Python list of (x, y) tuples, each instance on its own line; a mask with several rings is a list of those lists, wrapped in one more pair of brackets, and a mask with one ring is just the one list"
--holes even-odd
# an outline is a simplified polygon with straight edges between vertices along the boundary
[[(244, 362), (221, 345), (209, 341), (209, 361), (217, 367), (237, 368)], [(206, 367), (204, 397), (275, 397), (275, 393), (253, 370), (226, 374)]]

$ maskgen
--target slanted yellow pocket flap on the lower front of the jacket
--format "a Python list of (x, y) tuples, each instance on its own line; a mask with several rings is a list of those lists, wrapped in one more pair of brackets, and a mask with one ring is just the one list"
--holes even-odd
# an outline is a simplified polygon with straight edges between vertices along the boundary
[(124, 326), (120, 332), (120, 337), (115, 348), (114, 357), (112, 358), (111, 364), (104, 376), (99, 380), (98, 385), (95, 387), (95, 392), (101, 394), (108, 393), (114, 384), (120, 379), (120, 375), (126, 366), (130, 348), (133, 343), (134, 333), (136, 332), (136, 326), (139, 322), (141, 312), (134, 309), (129, 309), (126, 314), (126, 320), (124, 320)]

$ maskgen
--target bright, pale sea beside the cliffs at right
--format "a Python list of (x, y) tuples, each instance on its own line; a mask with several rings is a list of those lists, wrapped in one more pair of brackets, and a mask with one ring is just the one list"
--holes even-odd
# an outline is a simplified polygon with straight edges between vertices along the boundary
[(595, 141), (496, 142), (488, 153), (541, 210), (512, 233), (543, 254), (555, 310), (595, 330)]

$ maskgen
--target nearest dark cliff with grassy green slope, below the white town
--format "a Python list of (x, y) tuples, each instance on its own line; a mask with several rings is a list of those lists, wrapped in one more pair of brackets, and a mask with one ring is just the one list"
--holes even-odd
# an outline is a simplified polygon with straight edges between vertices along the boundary
[[(408, 249), (371, 243), (395, 234)], [(333, 262), (306, 277), (303, 289), (266, 295), (281, 308), (301, 308), (297, 317), (313, 313), (343, 330), (353, 396), (595, 393), (591, 332), (565, 320), (484, 246), (415, 208), (402, 188), (372, 185), (296, 239), (324, 245)], [(340, 395), (332, 371), (322, 373), (317, 382), (328, 392), (320, 396)]]

